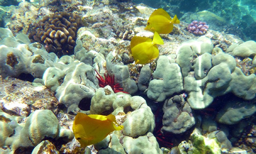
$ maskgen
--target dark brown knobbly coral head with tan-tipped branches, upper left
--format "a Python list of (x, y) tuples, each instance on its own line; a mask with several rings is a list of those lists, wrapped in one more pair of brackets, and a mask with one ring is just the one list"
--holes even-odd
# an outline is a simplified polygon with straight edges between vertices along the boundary
[(75, 13), (56, 12), (39, 21), (29, 38), (31, 42), (45, 45), (48, 52), (54, 52), (58, 57), (72, 55), (80, 23), (81, 17)]

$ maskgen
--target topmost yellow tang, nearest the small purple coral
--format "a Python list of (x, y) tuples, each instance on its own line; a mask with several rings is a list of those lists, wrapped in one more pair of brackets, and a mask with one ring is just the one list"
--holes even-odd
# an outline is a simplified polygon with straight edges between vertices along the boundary
[(173, 24), (180, 23), (175, 15), (173, 19), (164, 9), (155, 10), (149, 17), (145, 30), (158, 32), (159, 34), (168, 34), (173, 30)]

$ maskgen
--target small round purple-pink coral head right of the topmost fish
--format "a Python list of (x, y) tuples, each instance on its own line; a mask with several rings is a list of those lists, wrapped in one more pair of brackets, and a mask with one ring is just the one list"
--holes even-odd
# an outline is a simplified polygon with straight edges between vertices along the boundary
[(205, 22), (194, 20), (189, 24), (187, 30), (195, 35), (203, 35), (207, 32), (208, 28), (209, 26)]

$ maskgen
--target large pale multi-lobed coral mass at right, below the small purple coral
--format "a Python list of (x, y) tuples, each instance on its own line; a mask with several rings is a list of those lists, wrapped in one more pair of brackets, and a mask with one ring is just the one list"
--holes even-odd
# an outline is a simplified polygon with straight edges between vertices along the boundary
[[(198, 40), (201, 40), (198, 46), (192, 40), (182, 44), (176, 59), (182, 70), (184, 90), (189, 94), (190, 106), (193, 109), (206, 108), (213, 98), (228, 92), (247, 100), (253, 99), (255, 84), (249, 83), (255, 83), (255, 74), (245, 76), (236, 67), (235, 58), (223, 53), (220, 48), (214, 48), (212, 53), (212, 43), (208, 38), (200, 37)], [(208, 53), (212, 53), (212, 58)], [(194, 70), (193, 74), (190, 73), (191, 69)]]

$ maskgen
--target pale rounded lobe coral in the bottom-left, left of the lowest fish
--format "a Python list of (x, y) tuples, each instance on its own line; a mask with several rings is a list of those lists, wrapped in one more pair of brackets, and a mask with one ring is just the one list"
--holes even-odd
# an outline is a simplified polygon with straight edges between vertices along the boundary
[(1, 141), (5, 141), (1, 142), (1, 147), (11, 146), (12, 153), (18, 148), (35, 147), (45, 138), (62, 143), (74, 138), (72, 131), (60, 126), (51, 110), (36, 110), (28, 116), (25, 124), (20, 124), (24, 117), (10, 116), (3, 112), (0, 115), (2, 119), (6, 119), (5, 122), (0, 122), (1, 128), (7, 126), (7, 129), (1, 129), (1, 133), (6, 134), (0, 133)]

